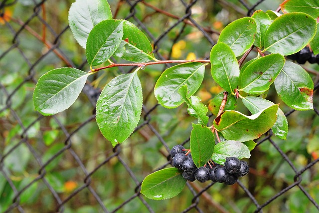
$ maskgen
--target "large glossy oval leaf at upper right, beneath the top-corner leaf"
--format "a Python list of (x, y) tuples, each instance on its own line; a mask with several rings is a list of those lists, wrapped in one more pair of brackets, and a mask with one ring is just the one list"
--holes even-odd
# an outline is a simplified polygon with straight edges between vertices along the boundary
[(264, 51), (291, 55), (304, 48), (315, 36), (317, 21), (303, 12), (283, 14), (269, 26)]

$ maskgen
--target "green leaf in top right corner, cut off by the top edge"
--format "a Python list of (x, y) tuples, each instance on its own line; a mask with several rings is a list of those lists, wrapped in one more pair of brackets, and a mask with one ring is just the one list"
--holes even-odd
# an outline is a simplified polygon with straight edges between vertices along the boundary
[(280, 4), (280, 8), (284, 13), (287, 12), (305, 12), (313, 16), (319, 17), (319, 1), (318, 0), (285, 0)]

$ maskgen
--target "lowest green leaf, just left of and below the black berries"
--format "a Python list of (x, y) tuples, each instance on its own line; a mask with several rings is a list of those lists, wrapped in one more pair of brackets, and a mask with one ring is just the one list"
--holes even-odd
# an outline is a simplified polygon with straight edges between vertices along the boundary
[(153, 200), (175, 197), (186, 184), (181, 174), (182, 171), (176, 168), (166, 168), (152, 173), (142, 182), (141, 193)]

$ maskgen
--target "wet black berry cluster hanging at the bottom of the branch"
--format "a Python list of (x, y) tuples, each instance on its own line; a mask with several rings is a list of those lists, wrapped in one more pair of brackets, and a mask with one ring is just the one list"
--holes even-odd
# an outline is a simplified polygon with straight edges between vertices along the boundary
[(213, 163), (213, 166), (209, 164), (209, 168), (204, 166), (197, 169), (191, 154), (186, 152), (181, 145), (174, 146), (170, 150), (170, 155), (173, 158), (173, 166), (183, 170), (183, 178), (190, 182), (197, 180), (204, 183), (211, 180), (232, 185), (237, 182), (239, 177), (243, 177), (249, 172), (248, 163), (235, 157), (226, 158), (225, 166)]

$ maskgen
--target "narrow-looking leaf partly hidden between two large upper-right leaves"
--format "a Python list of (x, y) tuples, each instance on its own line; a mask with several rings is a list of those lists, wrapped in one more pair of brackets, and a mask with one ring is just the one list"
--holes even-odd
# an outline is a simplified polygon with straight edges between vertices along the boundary
[(256, 10), (251, 17), (254, 18), (257, 24), (254, 45), (261, 49), (264, 46), (265, 34), (272, 20), (269, 15), (261, 9)]

